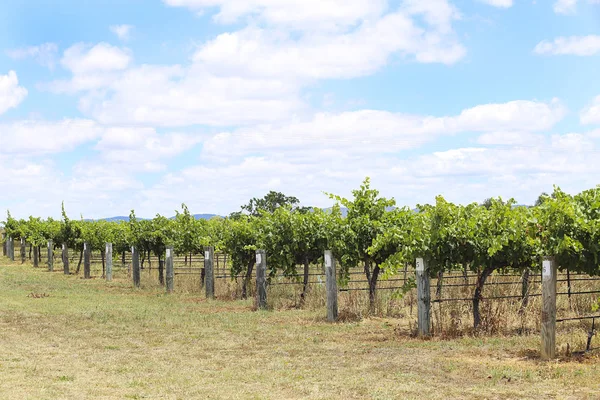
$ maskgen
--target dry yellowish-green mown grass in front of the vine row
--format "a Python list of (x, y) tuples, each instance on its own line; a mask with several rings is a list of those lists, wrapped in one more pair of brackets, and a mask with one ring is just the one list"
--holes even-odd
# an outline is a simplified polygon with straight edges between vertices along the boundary
[[(591, 354), (538, 359), (539, 336), (411, 338), (406, 318), (165, 295), (0, 259), (3, 399), (581, 399)], [(557, 343), (582, 330), (559, 332)], [(582, 341), (585, 338), (580, 338)], [(579, 339), (577, 339), (579, 340)], [(597, 339), (595, 339), (597, 340)]]

